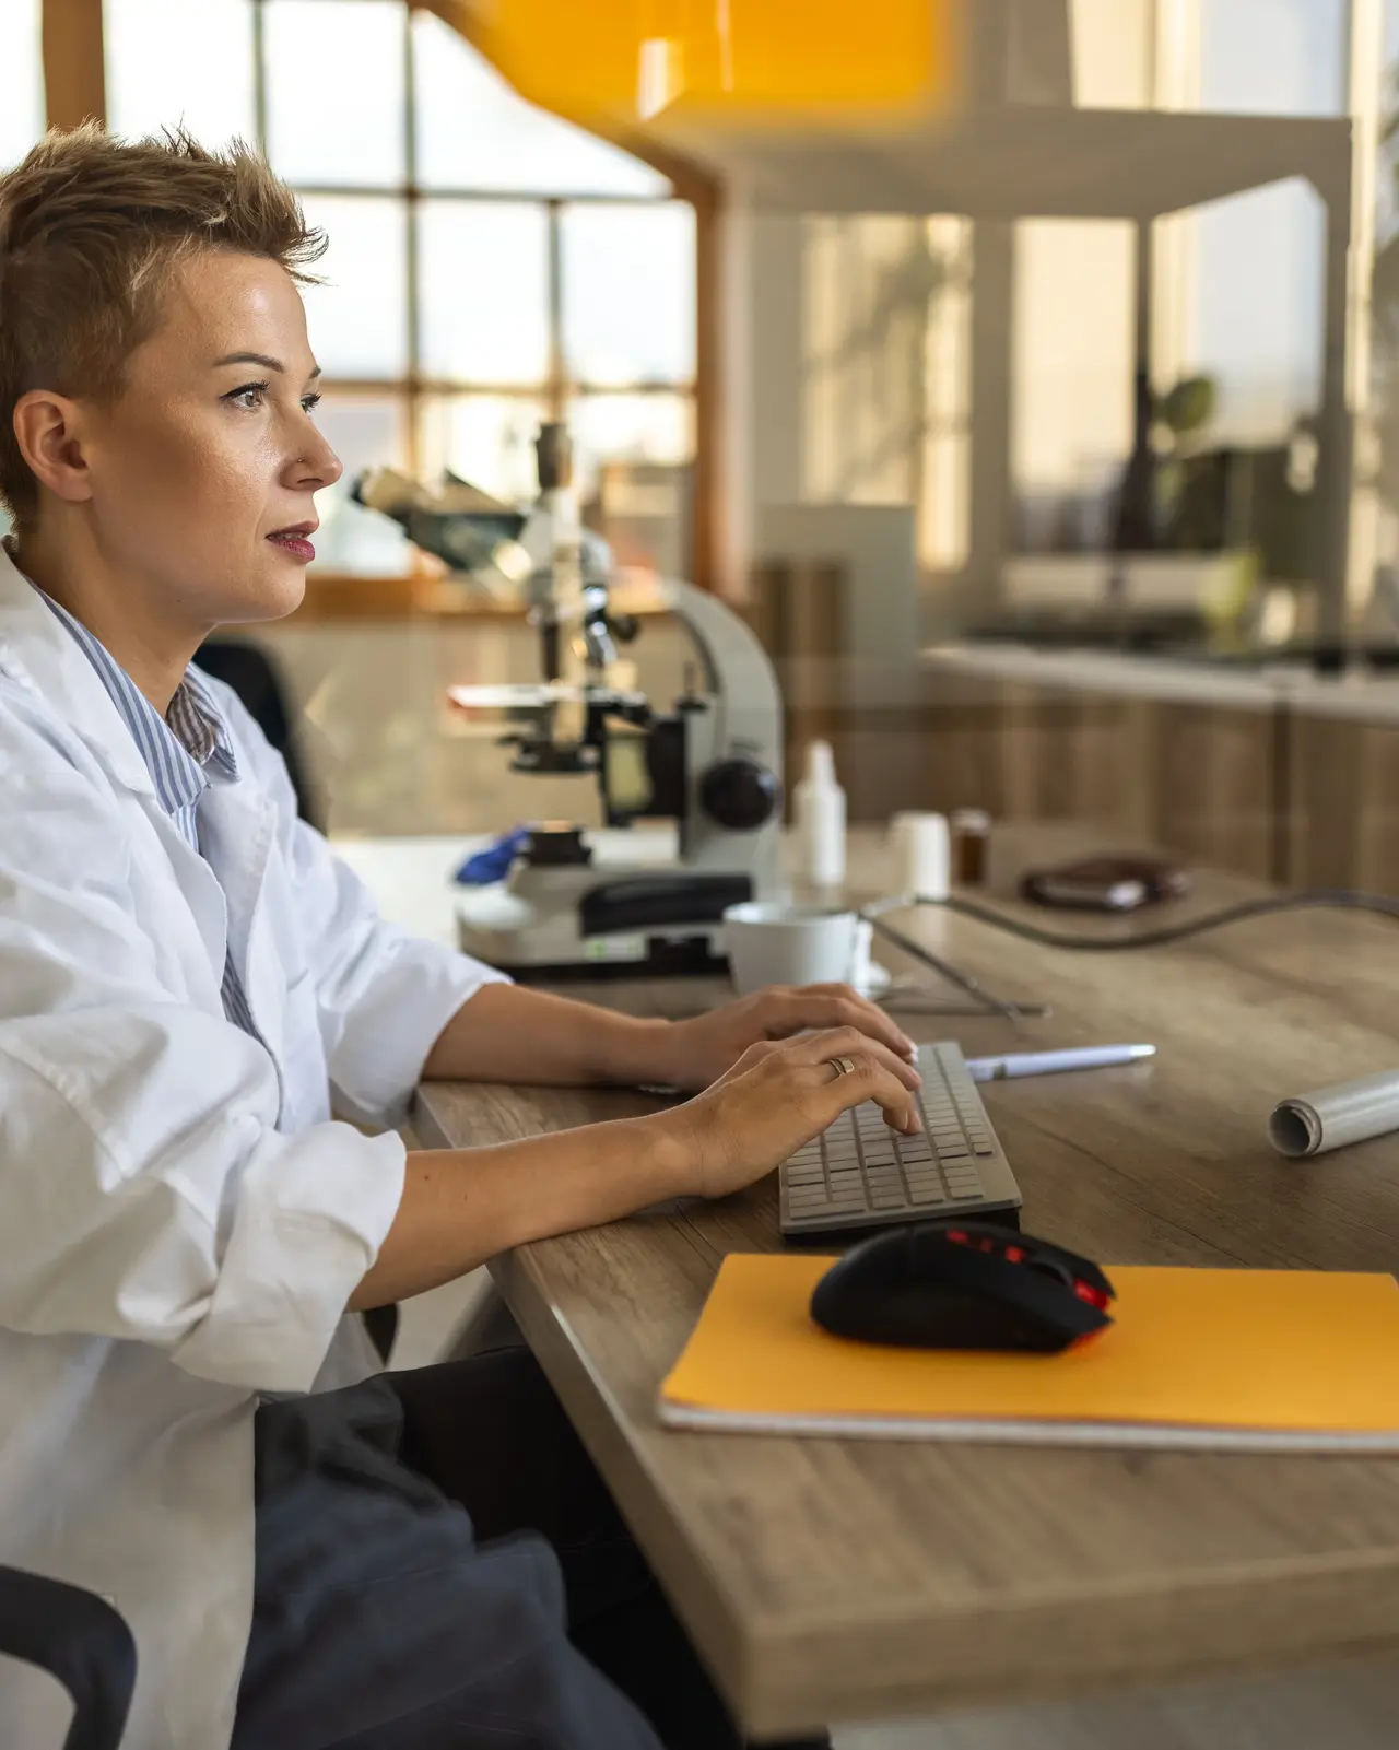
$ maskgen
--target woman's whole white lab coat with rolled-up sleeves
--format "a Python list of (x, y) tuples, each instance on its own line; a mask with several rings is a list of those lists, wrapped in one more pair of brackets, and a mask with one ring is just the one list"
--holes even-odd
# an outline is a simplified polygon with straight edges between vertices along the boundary
[[(124, 1750), (226, 1750), (255, 1393), (372, 1368), (343, 1309), (404, 1144), (332, 1124), (329, 1088), (392, 1122), (498, 976), (388, 926), (220, 705), (243, 774), (199, 805), (222, 891), (0, 550), (0, 1564), (126, 1617)], [(224, 1018), (226, 942), (266, 1050)], [(33, 1696), (0, 1659), (5, 1750), (59, 1741)]]

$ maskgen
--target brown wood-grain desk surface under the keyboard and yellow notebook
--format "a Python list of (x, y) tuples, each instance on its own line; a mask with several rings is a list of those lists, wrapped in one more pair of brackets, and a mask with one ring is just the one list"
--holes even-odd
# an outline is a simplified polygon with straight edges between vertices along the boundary
[[(1018, 852), (1044, 844), (1032, 833)], [(867, 849), (857, 873), (878, 891)], [(1184, 906), (1243, 891), (1203, 880)], [(1018, 1034), (901, 1015), (916, 1038), (958, 1038), (969, 1055), (1159, 1046), (1131, 1069), (985, 1088), (1028, 1230), (1107, 1264), (1399, 1264), (1399, 1136), (1296, 1164), (1264, 1132), (1280, 1096), (1399, 1062), (1399, 926), (1306, 912), (1117, 956), (932, 908), (897, 920), (997, 994), (1053, 1004)], [(684, 1013), (726, 992), (586, 994)], [(414, 1124), (462, 1146), (642, 1110), (633, 1094), (434, 1085)], [(778, 1244), (768, 1180), (491, 1267), (754, 1734), (1399, 1647), (1396, 1460), (663, 1432), (656, 1388), (719, 1260)]]

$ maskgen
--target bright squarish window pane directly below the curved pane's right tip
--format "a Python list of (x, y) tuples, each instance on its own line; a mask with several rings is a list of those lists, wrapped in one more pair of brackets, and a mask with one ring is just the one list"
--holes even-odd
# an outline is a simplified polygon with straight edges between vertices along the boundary
[(694, 208), (570, 206), (563, 215), (563, 346), (584, 383), (694, 376)]

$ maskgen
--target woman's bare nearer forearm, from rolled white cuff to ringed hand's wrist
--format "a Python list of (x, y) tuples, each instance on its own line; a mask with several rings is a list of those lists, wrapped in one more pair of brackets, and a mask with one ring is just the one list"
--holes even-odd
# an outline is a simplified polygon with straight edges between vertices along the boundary
[(682, 1132), (619, 1118), (495, 1148), (418, 1150), (379, 1255), (350, 1307), (425, 1293), (511, 1246), (616, 1222), (693, 1190)]

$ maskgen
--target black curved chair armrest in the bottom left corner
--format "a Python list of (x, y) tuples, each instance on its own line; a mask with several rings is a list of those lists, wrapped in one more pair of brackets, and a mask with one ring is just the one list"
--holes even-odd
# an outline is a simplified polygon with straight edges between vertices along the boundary
[(0, 1654), (38, 1666), (73, 1698), (63, 1750), (117, 1750), (136, 1684), (136, 1643), (105, 1600), (0, 1568)]

